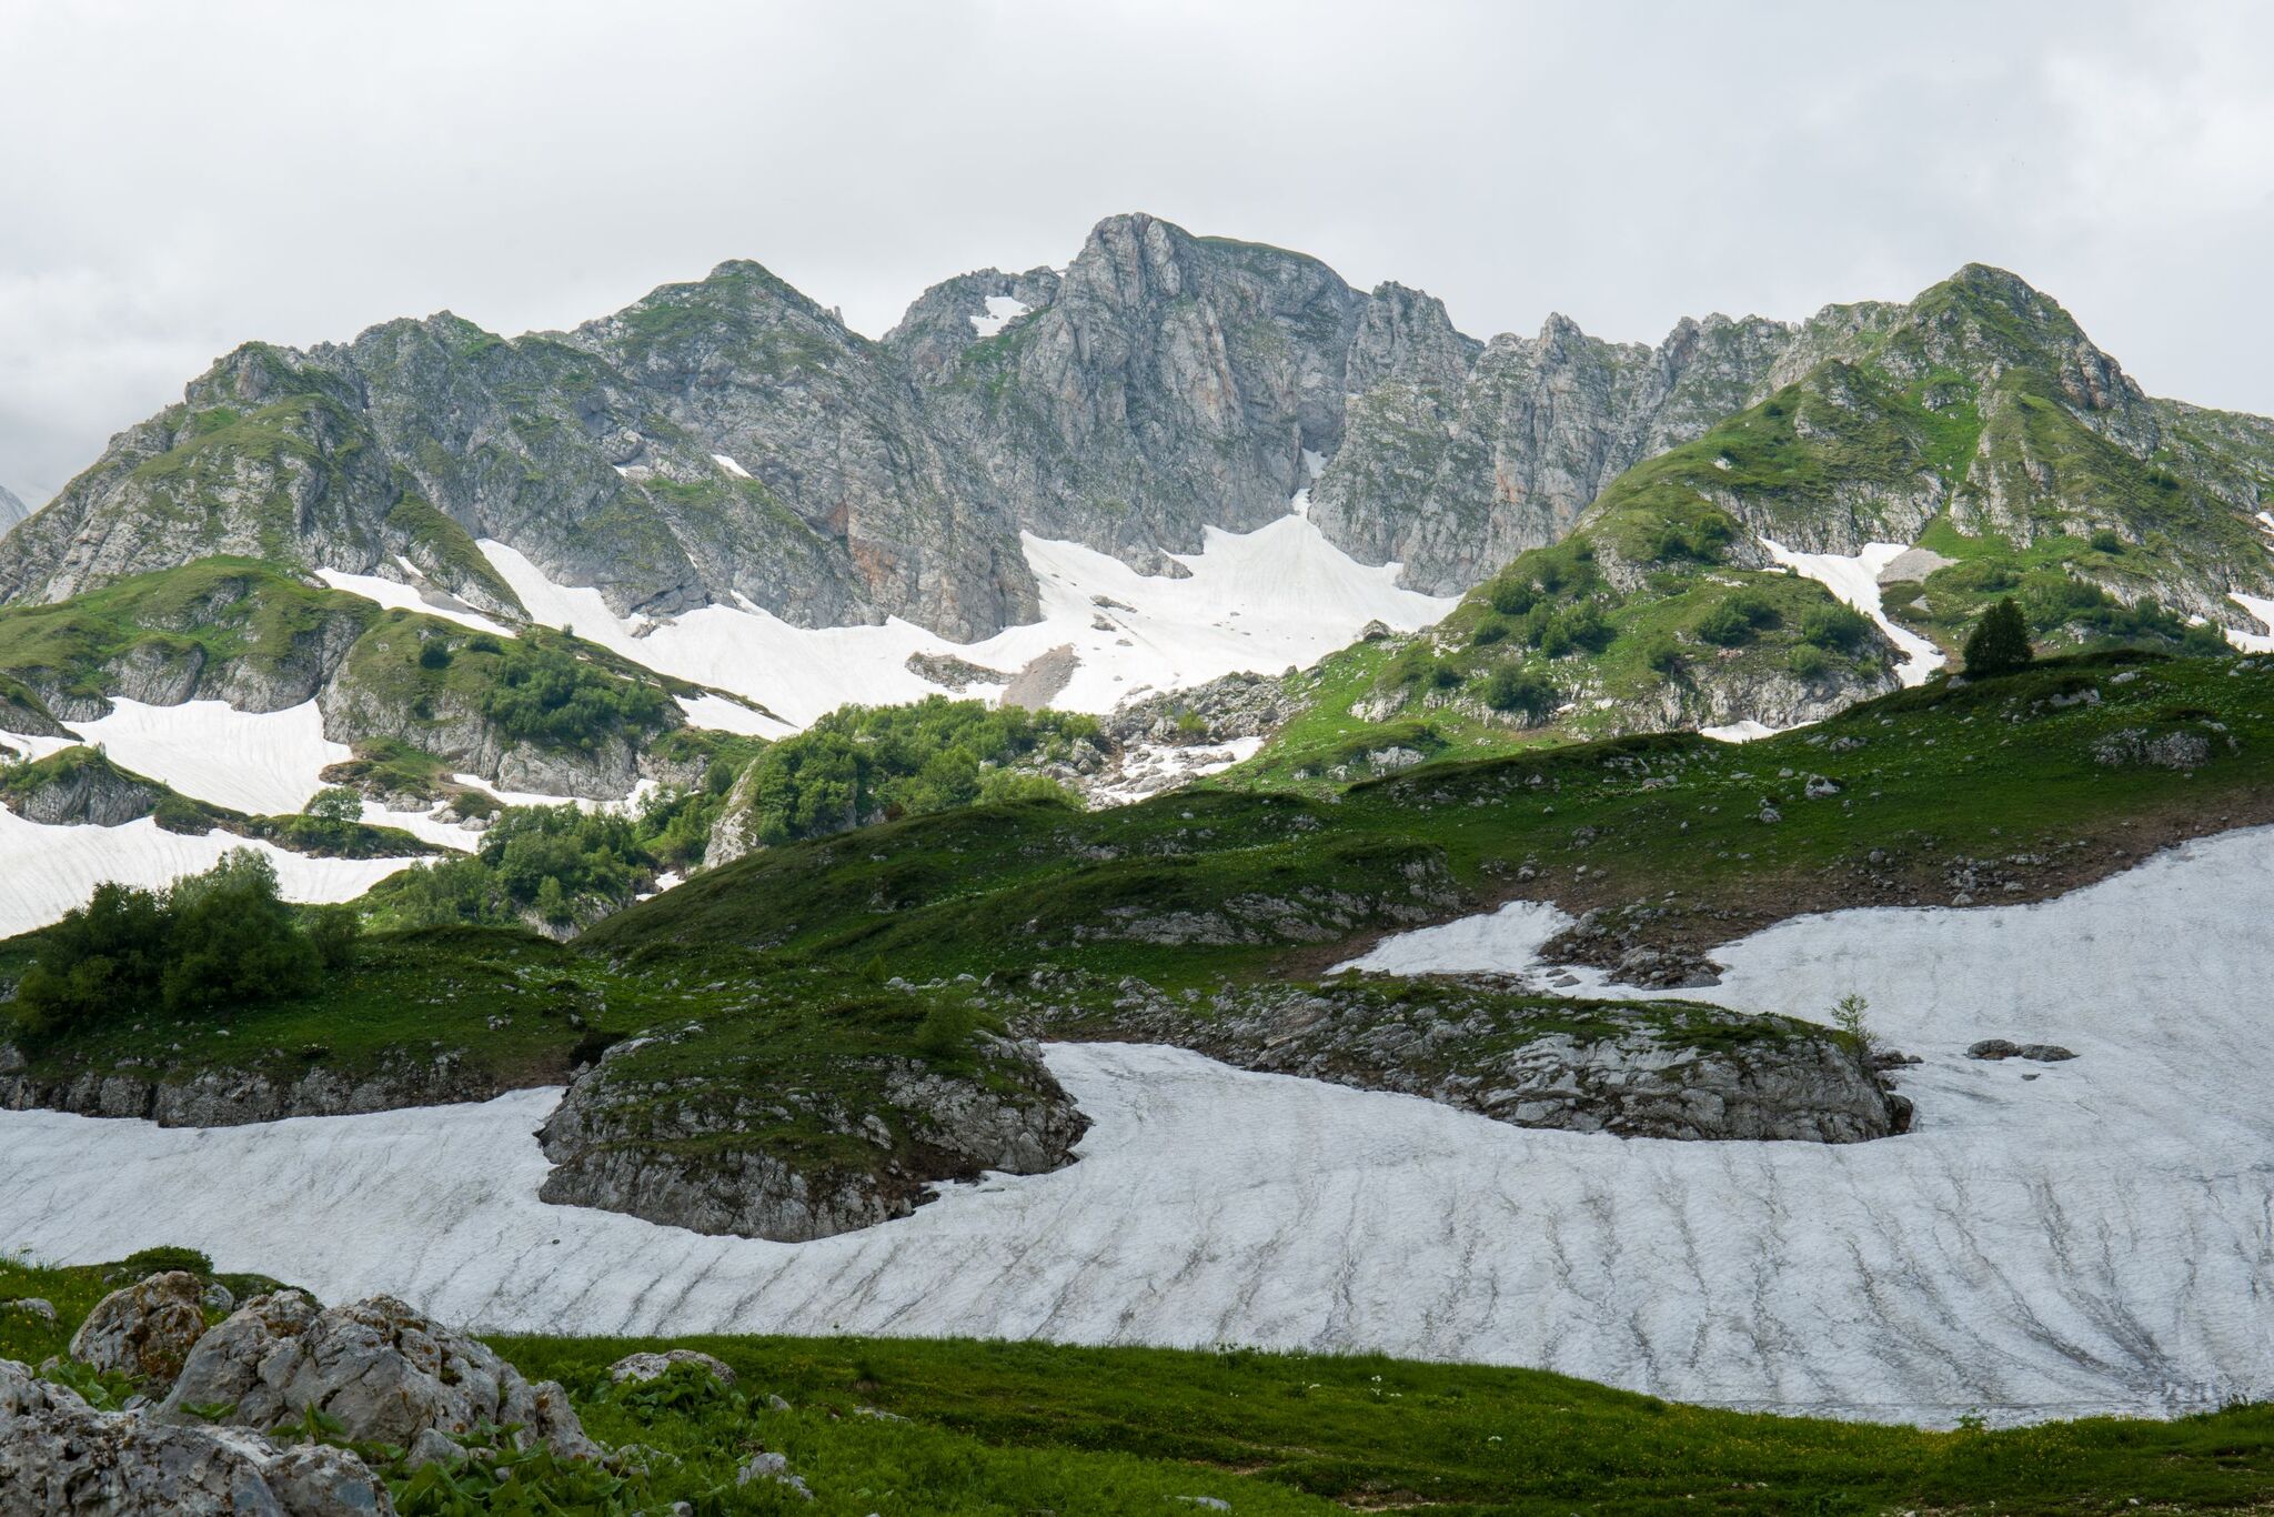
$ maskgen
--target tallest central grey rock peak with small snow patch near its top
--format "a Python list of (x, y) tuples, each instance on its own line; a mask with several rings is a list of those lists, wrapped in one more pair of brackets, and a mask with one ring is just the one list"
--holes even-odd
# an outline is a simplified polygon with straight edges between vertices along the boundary
[(1114, 216), (1064, 275), (951, 280), (885, 346), (1010, 519), (1153, 569), (1287, 514), (1342, 441), (1362, 309), (1317, 259)]

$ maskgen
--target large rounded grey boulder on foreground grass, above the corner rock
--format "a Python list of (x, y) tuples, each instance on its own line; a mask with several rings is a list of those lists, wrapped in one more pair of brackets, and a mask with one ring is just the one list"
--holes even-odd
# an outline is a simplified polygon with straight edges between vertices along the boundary
[(514, 1442), (543, 1442), (564, 1458), (600, 1449), (553, 1381), (530, 1385), (489, 1346), (453, 1333), (393, 1296), (318, 1310), (296, 1290), (255, 1296), (207, 1333), (161, 1421), (189, 1421), (191, 1406), (227, 1406), (227, 1421), (273, 1428), (318, 1410), (346, 1424), (352, 1440), (380, 1440), (414, 1451), (443, 1449), (441, 1437), (482, 1424), (518, 1424)]

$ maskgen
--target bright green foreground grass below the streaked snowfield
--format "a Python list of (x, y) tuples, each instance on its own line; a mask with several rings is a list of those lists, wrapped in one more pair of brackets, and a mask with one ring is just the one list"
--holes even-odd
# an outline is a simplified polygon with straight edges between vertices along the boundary
[[(0, 1260), (0, 1356), (41, 1362), (136, 1269)], [(257, 1280), (232, 1276), (241, 1292)], [(455, 1510), (814, 1517), (923, 1512), (2235, 1512), (2269, 1510), (2274, 1408), (1928, 1433), (1671, 1406), (1530, 1369), (1378, 1356), (1073, 1349), (873, 1337), (493, 1337), (562, 1381), (587, 1431), (644, 1474), (557, 1506)], [(607, 1383), (639, 1349), (739, 1374)], [(787, 1410), (769, 1399), (780, 1399)], [(882, 1412), (882, 1415), (878, 1415)], [(814, 1490), (739, 1487), (757, 1451)], [(539, 1474), (539, 1481), (543, 1474)], [(453, 1510), (453, 1508), (434, 1508)]]

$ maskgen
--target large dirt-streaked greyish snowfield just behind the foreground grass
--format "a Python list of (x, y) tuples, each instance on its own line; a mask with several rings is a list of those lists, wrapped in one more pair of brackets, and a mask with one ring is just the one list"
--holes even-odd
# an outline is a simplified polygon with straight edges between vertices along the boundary
[[(1862, 992), (1908, 1137), (1624, 1142), (1144, 1046), (1055, 1046), (1080, 1162), (814, 1244), (534, 1199), (555, 1092), (161, 1130), (0, 1112), (0, 1244), (159, 1242), (489, 1328), (1385, 1349), (1742, 1408), (1949, 1424), (2274, 1394), (2274, 828), (2063, 901), (1858, 910), (1719, 958), (1731, 1005)], [(1526, 969), (1503, 910), (1385, 942)], [(1978, 1037), (2065, 1064), (1983, 1064)]]

